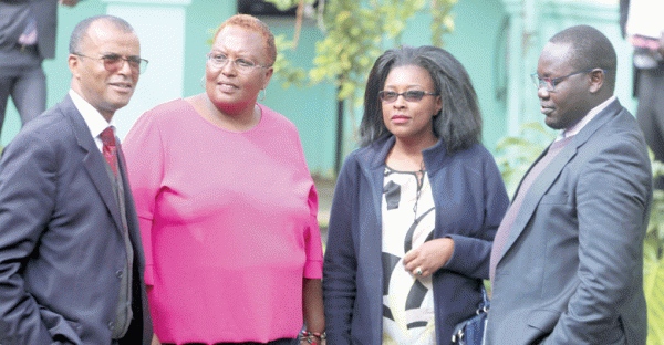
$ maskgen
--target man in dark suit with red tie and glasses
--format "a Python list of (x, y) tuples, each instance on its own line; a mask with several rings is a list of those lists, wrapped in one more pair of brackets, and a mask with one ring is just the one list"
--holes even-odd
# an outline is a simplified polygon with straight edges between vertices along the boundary
[(0, 159), (0, 344), (149, 344), (145, 260), (110, 121), (146, 63), (124, 20), (74, 29), (71, 90)]

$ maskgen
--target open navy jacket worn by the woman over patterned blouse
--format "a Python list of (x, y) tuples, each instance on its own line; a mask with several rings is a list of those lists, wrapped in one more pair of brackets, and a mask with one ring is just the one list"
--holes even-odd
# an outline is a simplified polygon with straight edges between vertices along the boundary
[[(394, 137), (360, 148), (336, 180), (323, 264), (329, 344), (382, 344), (382, 216), (385, 158)], [(455, 249), (433, 274), (437, 344), (474, 315), (489, 254), (509, 199), (498, 167), (481, 145), (447, 155), (442, 140), (423, 151), (436, 207), (435, 238)]]

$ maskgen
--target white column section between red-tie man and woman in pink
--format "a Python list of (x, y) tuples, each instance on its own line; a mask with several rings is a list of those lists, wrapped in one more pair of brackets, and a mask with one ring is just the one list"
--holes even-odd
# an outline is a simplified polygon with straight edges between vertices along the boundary
[(120, 17), (136, 31), (147, 70), (141, 74), (129, 104), (113, 116), (121, 139), (138, 116), (183, 96), (186, 7), (191, 0), (102, 0), (106, 13)]

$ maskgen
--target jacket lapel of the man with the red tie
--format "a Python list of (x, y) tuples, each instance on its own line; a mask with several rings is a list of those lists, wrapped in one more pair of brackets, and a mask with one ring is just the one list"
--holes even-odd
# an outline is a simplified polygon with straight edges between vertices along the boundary
[(100, 197), (106, 205), (106, 208), (113, 216), (113, 221), (115, 222), (116, 229), (120, 231), (122, 229), (122, 219), (120, 215), (120, 207), (117, 201), (115, 200), (115, 196), (113, 195), (113, 188), (111, 186), (111, 179), (108, 178), (108, 172), (106, 171), (106, 160), (100, 153), (94, 138), (90, 134), (90, 129), (79, 113), (79, 109), (70, 98), (70, 96), (65, 96), (64, 101), (60, 103), (60, 107), (62, 108), (62, 113), (69, 119), (69, 123), (72, 127), (76, 136), (76, 143), (79, 147), (83, 150), (83, 166), (90, 176), (90, 179), (94, 184)]

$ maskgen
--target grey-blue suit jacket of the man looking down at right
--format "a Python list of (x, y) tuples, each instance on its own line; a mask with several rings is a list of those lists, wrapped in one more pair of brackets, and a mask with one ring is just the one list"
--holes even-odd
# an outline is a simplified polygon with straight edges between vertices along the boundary
[(645, 344), (651, 201), (643, 135), (614, 101), (528, 190), (498, 259), (488, 344)]

